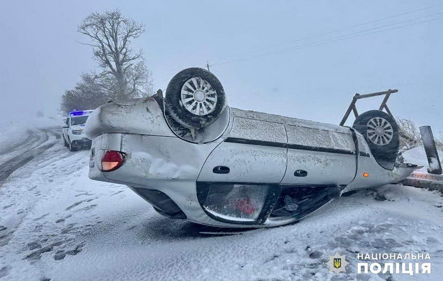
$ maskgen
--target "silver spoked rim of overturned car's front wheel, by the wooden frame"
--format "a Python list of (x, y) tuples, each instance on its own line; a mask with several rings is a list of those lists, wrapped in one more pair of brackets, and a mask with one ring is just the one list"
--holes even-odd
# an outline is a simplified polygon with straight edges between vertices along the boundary
[(387, 145), (392, 141), (394, 130), (391, 123), (383, 117), (373, 117), (366, 124), (367, 137), (373, 144)]

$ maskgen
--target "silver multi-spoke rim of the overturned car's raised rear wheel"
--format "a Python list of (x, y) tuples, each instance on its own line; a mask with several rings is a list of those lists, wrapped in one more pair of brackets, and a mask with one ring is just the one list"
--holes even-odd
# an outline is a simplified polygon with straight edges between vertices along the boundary
[(204, 116), (215, 110), (217, 92), (201, 77), (188, 79), (181, 87), (180, 93), (183, 107), (193, 115)]

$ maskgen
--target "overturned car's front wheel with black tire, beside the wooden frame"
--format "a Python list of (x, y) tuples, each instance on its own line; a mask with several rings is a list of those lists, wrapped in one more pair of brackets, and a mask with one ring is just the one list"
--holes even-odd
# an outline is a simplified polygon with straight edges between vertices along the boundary
[(380, 110), (360, 114), (353, 128), (360, 132), (380, 166), (392, 170), (399, 150), (399, 129), (395, 119)]

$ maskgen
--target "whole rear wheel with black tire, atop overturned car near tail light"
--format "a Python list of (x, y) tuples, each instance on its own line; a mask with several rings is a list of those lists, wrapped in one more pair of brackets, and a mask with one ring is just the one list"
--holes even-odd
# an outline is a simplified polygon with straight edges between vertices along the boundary
[(166, 111), (180, 125), (200, 129), (212, 124), (226, 107), (225, 91), (211, 72), (198, 67), (178, 72), (167, 85)]

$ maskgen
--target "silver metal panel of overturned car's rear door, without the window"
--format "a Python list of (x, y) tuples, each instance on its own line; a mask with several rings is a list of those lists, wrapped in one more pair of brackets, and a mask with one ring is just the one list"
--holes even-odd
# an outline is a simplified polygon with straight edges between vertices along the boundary
[(198, 181), (278, 184), (286, 153), (283, 124), (234, 117), (229, 136), (211, 152)]

